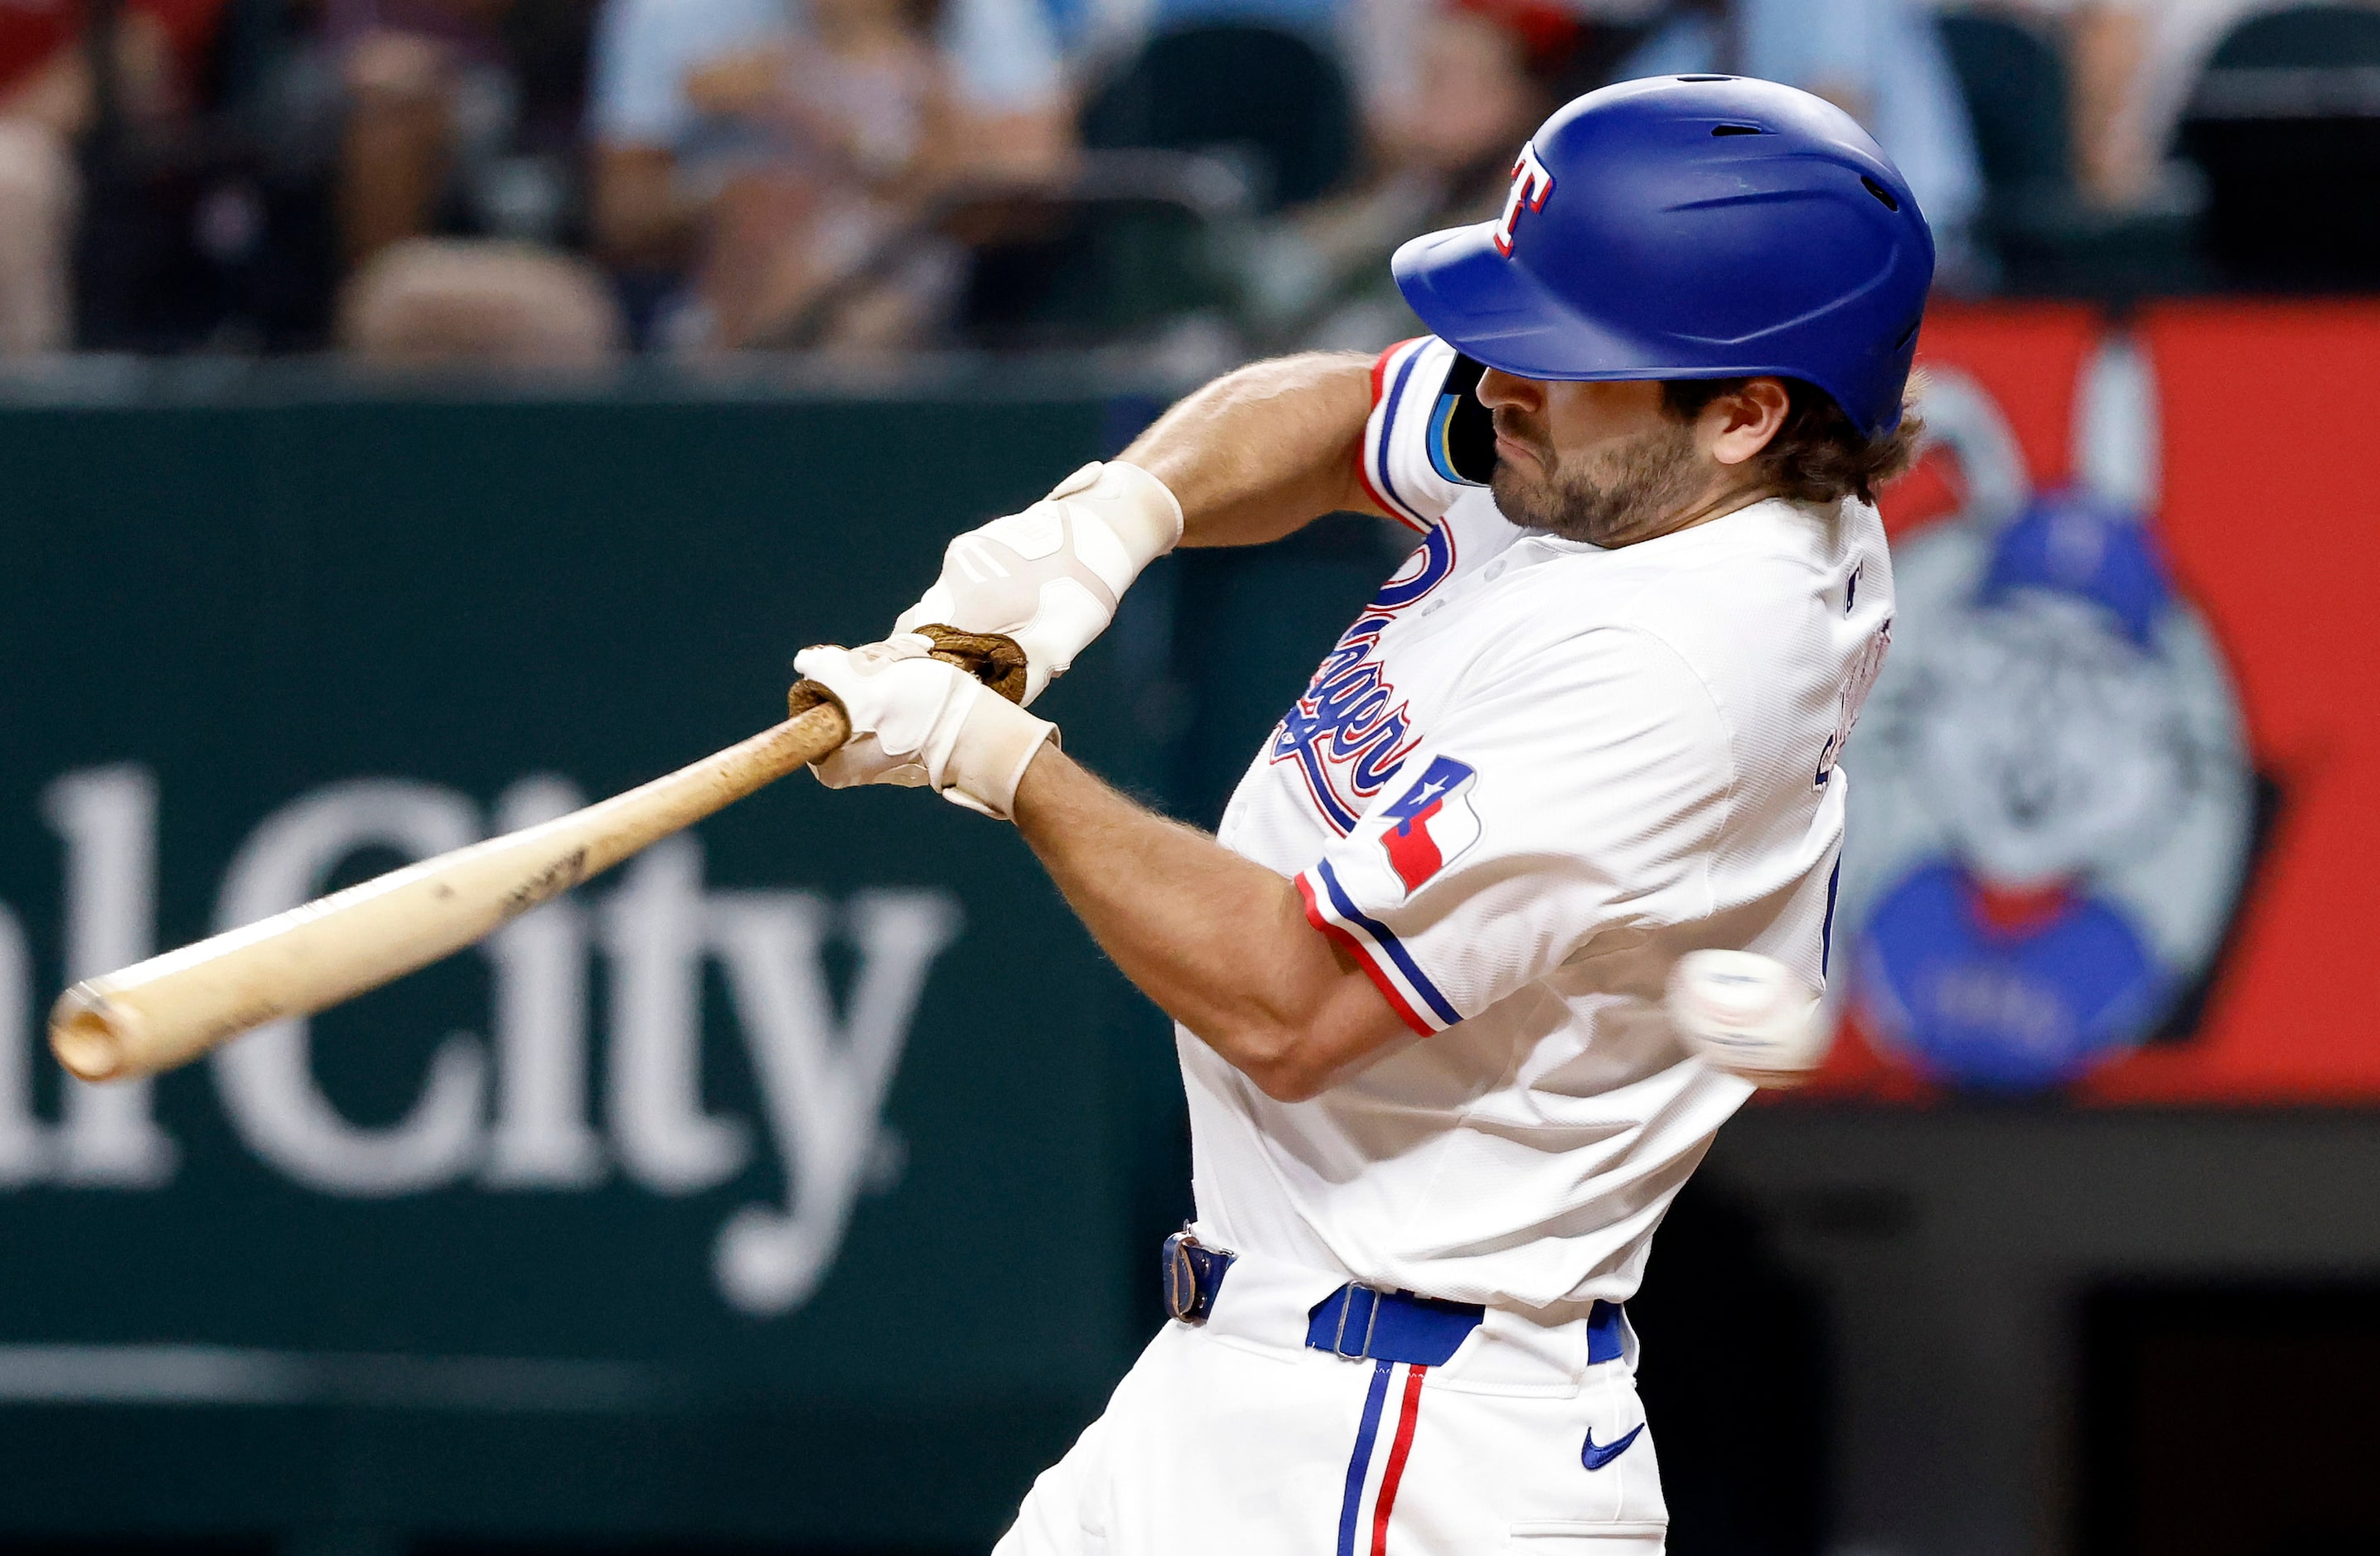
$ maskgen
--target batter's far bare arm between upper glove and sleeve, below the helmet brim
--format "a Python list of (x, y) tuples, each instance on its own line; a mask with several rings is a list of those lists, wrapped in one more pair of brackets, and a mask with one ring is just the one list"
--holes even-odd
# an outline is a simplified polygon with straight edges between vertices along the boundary
[(1178, 402), (1123, 450), (1183, 504), (1183, 545), (1261, 545), (1323, 514), (1378, 514), (1357, 481), (1371, 359), (1252, 362)]

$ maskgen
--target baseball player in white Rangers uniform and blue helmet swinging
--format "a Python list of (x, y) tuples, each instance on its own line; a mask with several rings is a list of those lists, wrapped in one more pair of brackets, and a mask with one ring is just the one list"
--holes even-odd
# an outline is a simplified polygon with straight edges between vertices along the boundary
[[(1219, 378), (797, 659), (857, 730), (826, 783), (1014, 818), (1178, 1021), (1173, 1323), (1002, 1556), (1664, 1549), (1623, 1304), (1752, 1087), (1661, 992), (1711, 947), (1825, 975), (1933, 240), (1840, 109), (1676, 76), (1564, 107), (1395, 276), (1430, 338)], [(912, 630), (1009, 633), (1031, 697), (1157, 554), (1333, 509), (1421, 542), (1214, 837)]]

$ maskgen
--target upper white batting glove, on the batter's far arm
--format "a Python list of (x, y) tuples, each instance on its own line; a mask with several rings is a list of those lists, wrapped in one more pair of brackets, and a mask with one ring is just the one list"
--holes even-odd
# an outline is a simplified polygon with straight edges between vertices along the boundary
[(1064, 676), (1116, 619), (1150, 561), (1183, 538), (1183, 504), (1138, 464), (1085, 464), (1021, 514), (942, 552), (942, 576), (892, 623), (1007, 633), (1026, 652), (1026, 702)]

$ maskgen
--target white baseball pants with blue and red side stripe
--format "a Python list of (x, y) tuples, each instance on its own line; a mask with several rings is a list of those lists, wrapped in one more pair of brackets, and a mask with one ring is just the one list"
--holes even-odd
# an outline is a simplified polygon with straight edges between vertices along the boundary
[(1209, 1323), (1150, 1342), (992, 1556), (1661, 1556), (1633, 1344), (1585, 1366), (1583, 1320), (1490, 1311), (1445, 1366), (1342, 1361), (1304, 1344), (1338, 1280), (1235, 1263)]

